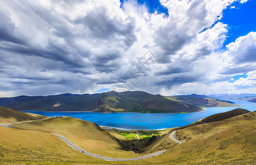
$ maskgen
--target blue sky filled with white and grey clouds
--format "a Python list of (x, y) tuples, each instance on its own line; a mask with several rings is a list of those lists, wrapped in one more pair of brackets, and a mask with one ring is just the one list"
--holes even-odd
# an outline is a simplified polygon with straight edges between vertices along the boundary
[(0, 97), (256, 94), (254, 0), (0, 0)]

